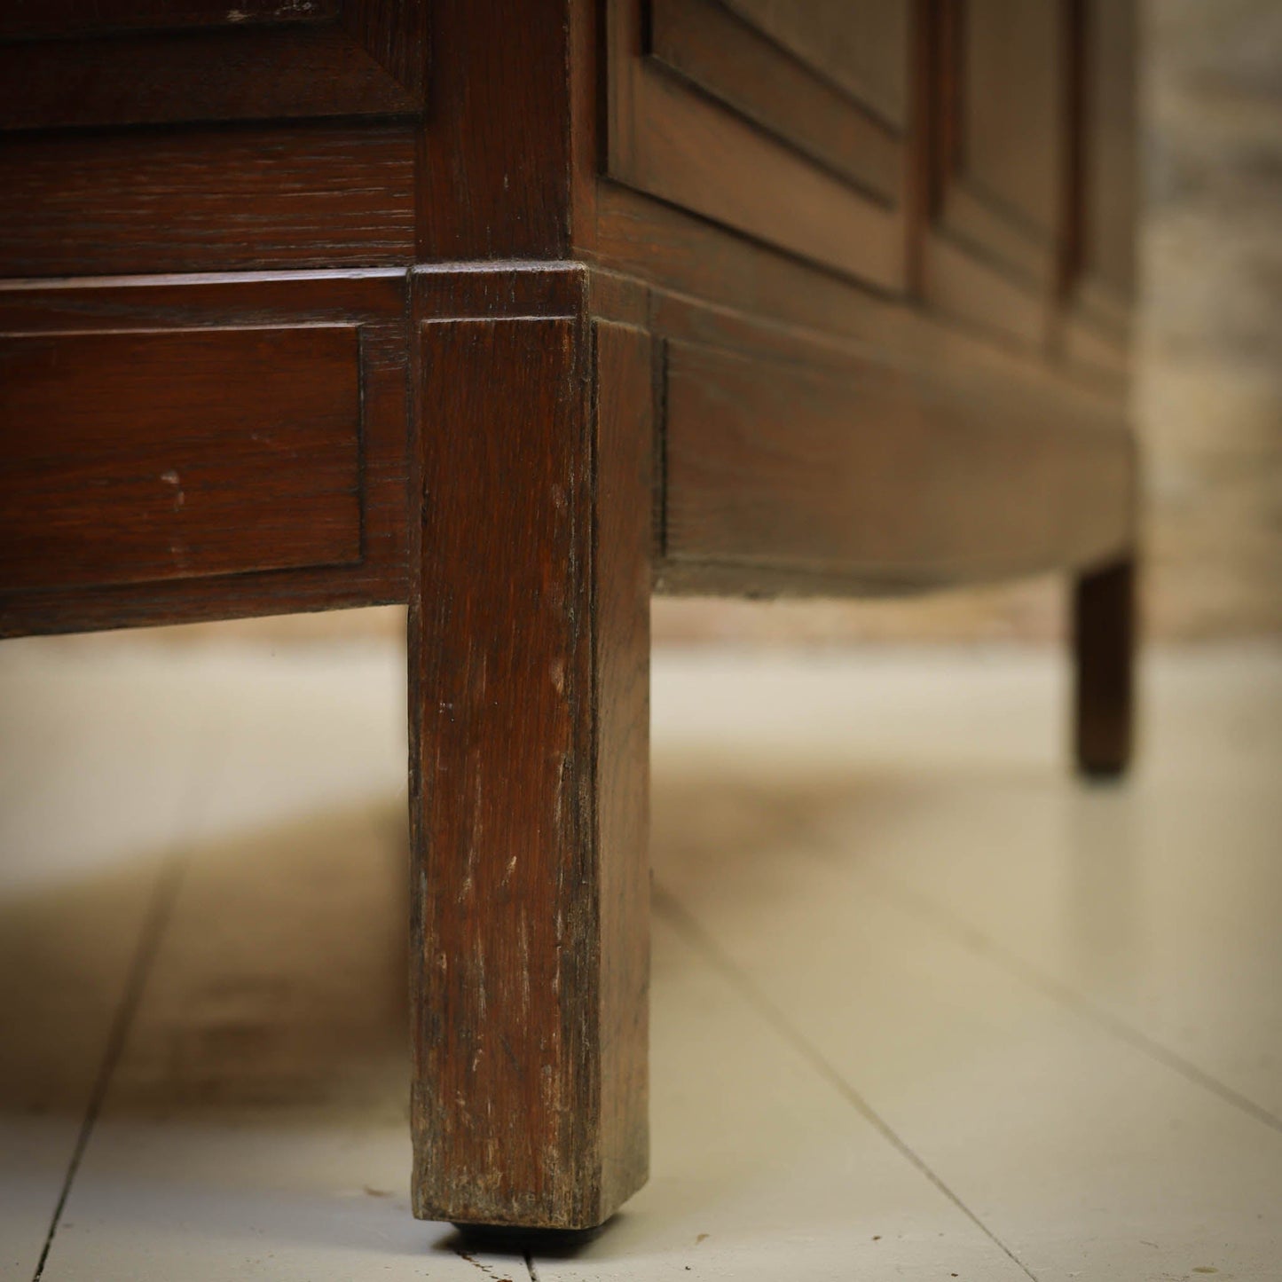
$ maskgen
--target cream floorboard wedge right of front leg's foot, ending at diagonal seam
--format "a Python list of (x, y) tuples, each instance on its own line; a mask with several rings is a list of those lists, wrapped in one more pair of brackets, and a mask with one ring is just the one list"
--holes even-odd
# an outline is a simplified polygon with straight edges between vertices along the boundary
[(1024, 1279), (660, 913), (650, 1182), (542, 1282)]

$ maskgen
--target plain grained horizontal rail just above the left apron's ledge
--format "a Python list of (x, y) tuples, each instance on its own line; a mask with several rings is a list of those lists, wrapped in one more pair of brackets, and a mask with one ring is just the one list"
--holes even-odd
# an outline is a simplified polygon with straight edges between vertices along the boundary
[(8, 137), (0, 274), (408, 264), (408, 128), (244, 127)]

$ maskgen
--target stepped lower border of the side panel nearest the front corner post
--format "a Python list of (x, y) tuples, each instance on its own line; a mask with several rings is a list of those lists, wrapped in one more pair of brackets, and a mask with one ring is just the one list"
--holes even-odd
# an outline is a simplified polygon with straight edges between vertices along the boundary
[[(903, 287), (894, 126), (723, 4), (612, 0), (606, 14), (609, 177), (887, 292)], [(908, 58), (906, 45), (881, 53)]]

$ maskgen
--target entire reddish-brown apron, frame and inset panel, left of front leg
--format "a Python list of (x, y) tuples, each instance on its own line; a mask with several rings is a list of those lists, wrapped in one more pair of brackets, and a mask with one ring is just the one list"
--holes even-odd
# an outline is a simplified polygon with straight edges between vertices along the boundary
[(6, 541), (40, 551), (0, 635), (404, 600), (404, 310), (401, 273), (0, 286)]

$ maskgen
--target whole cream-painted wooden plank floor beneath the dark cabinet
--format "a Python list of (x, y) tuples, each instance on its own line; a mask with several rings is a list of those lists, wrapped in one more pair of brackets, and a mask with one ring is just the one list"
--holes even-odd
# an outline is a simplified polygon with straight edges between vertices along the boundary
[[(1268, 1279), (1282, 654), (660, 655), (654, 1176), (408, 1211), (394, 650), (0, 646), (0, 1277)], [(479, 1270), (479, 1272), (478, 1272)]]

